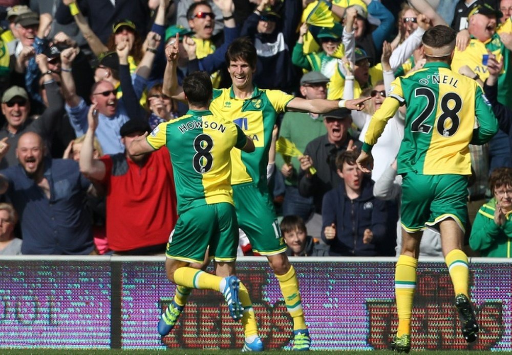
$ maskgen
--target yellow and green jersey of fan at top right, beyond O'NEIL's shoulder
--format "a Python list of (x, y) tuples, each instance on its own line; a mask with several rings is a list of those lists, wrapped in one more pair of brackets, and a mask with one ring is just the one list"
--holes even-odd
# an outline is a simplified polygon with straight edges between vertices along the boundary
[(461, 66), (468, 65), (473, 72), (478, 74), (482, 81), (485, 81), (485, 79), (489, 77), (487, 64), (484, 65), (483, 61), (483, 56), (488, 55), (487, 51), (496, 55), (498, 61), (503, 60), (503, 72), (498, 77), (498, 101), (512, 109), (512, 67), (510, 63), (510, 51), (505, 47), (497, 33), (486, 42), (472, 38), (466, 49), (462, 52), (456, 47), (452, 60), (452, 70), (458, 72)]

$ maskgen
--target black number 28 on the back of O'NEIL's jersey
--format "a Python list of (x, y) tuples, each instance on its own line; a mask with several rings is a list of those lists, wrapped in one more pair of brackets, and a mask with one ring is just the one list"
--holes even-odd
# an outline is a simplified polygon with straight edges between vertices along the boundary
[[(426, 106), (421, 111), (418, 117), (412, 122), (411, 130), (419, 133), (430, 133), (432, 126), (425, 124), (424, 122), (430, 117), (432, 112), (436, 109), (436, 96), (434, 91), (428, 87), (419, 87), (414, 90), (414, 97), (426, 97)], [(449, 106), (449, 102), (453, 101), (452, 108)], [(443, 137), (451, 137), (457, 132), (460, 124), (460, 118), (457, 115), (462, 108), (462, 99), (455, 92), (447, 92), (441, 98), (441, 115), (437, 120), (436, 130)], [(446, 128), (446, 120), (451, 120), (451, 125)]]

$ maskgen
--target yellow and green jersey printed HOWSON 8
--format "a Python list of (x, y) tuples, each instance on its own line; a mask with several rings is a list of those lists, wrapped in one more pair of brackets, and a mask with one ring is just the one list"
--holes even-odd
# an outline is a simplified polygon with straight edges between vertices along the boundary
[(159, 124), (146, 140), (155, 149), (165, 146), (169, 150), (178, 214), (205, 204), (233, 204), (229, 151), (247, 143), (237, 125), (210, 111), (189, 110)]

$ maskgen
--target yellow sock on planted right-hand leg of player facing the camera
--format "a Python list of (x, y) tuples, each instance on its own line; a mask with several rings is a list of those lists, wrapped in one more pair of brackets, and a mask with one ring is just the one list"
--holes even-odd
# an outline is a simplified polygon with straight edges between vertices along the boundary
[(281, 293), (285, 299), (286, 308), (293, 318), (293, 330), (307, 329), (304, 312), (302, 310), (301, 293), (298, 291), (298, 280), (293, 266), (284, 275), (275, 275), (278, 278)]

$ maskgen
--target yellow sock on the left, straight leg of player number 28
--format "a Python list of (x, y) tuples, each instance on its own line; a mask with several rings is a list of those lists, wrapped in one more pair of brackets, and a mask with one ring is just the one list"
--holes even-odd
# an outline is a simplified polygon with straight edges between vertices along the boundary
[(396, 335), (411, 334), (411, 314), (413, 309), (414, 290), (416, 289), (416, 268), (418, 259), (400, 255), (395, 270), (396, 311), (398, 313), (398, 329)]

